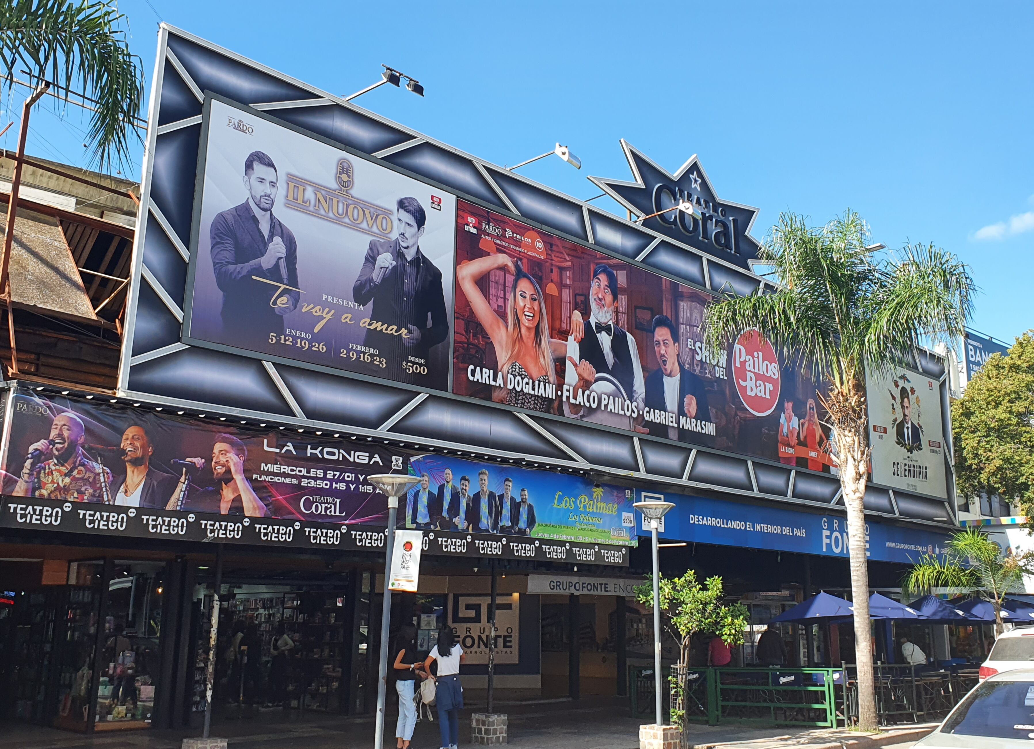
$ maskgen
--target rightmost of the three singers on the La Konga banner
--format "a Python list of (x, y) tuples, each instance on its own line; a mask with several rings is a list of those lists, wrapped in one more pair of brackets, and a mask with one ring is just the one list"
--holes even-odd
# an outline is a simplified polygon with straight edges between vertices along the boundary
[[(244, 475), (244, 461), (248, 451), (244, 443), (233, 435), (216, 435), (212, 446), (212, 476), (215, 485), (208, 486), (187, 496), (184, 510), (194, 512), (212, 512), (220, 515), (247, 515), (248, 517), (267, 517), (269, 508), (258, 499), (251, 487), (251, 482)], [(199, 469), (205, 467), (205, 458), (189, 457)], [(165, 506), (166, 510), (177, 509), (177, 500), (184, 480), (176, 485), (172, 499)]]

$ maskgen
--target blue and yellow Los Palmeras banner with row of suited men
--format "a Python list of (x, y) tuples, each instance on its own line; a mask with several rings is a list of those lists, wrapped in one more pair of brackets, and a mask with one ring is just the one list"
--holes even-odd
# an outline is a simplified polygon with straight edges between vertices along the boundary
[[(436, 536), (635, 546), (634, 491), (580, 476), (449, 455), (409, 459), (420, 483), (399, 503), (403, 525)], [(538, 541), (536, 541), (538, 543)]]

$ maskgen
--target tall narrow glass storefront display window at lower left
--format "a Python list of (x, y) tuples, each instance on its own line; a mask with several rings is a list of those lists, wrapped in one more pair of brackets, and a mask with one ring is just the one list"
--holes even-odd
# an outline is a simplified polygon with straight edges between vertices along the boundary
[(108, 582), (96, 729), (150, 727), (160, 667), (164, 565), (116, 562)]

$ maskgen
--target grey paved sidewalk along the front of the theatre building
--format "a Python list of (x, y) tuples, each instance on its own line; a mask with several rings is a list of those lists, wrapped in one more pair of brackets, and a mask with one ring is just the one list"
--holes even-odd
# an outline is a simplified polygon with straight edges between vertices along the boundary
[[(537, 705), (500, 705), (509, 714), (510, 745), (531, 749), (638, 749), (639, 724), (630, 718), (628, 702), (609, 697), (583, 698)], [(478, 708), (475, 708), (478, 710)], [(460, 746), (470, 747), (469, 717), (460, 720)], [(395, 746), (395, 716), (386, 725), (386, 748)], [(255, 713), (241, 719), (213, 721), (212, 735), (230, 740), (231, 749), (369, 749), (373, 743), (373, 719), (342, 718), (297, 712)], [(54, 728), (5, 723), (0, 728), (2, 749), (179, 749), (184, 737), (201, 736), (201, 729), (108, 731), (92, 736), (69, 733)], [(905, 738), (900, 738), (905, 736)], [(737, 724), (694, 725), (690, 746), (728, 749), (872, 749), (905, 741), (919, 735), (885, 733), (876, 737), (845, 730), (795, 730), (788, 727), (758, 728)], [(891, 740), (892, 739), (892, 740)], [(438, 723), (417, 724), (415, 749), (435, 749), (440, 744)]]

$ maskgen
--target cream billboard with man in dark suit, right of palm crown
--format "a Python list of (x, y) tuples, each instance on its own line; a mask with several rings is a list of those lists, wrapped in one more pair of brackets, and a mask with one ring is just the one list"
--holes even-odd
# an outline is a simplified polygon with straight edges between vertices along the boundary
[(873, 481), (946, 497), (940, 382), (913, 369), (870, 372), (865, 399)]

